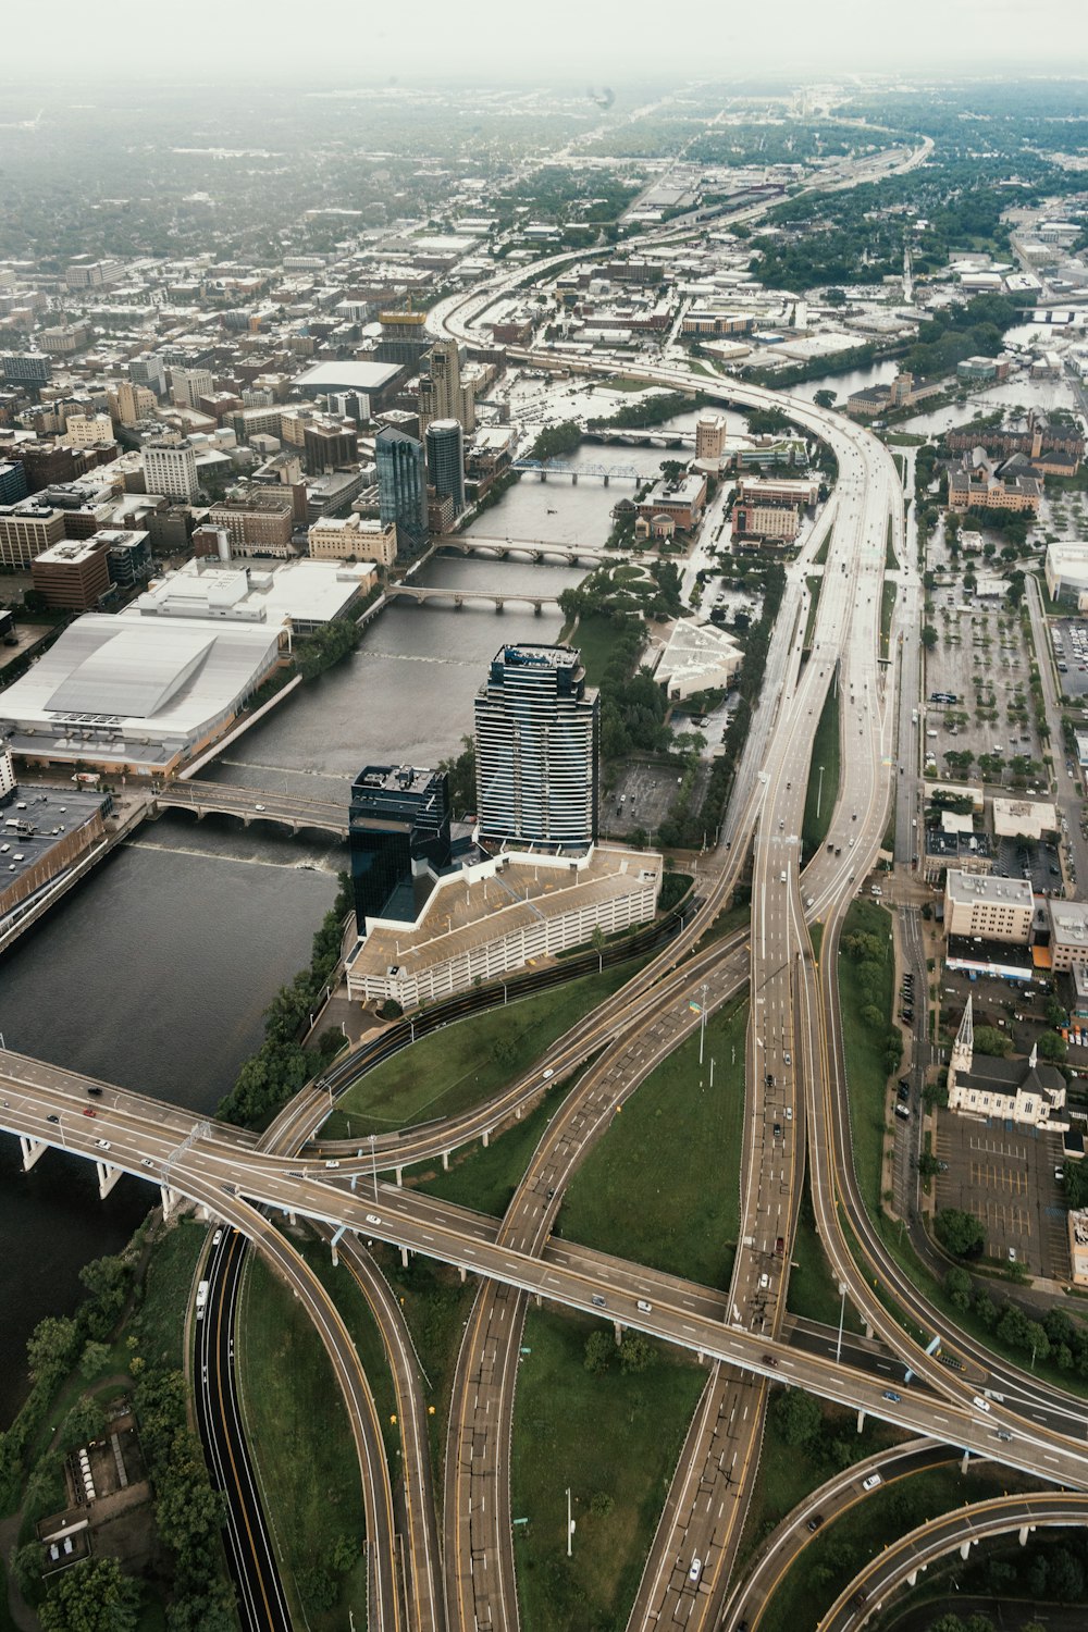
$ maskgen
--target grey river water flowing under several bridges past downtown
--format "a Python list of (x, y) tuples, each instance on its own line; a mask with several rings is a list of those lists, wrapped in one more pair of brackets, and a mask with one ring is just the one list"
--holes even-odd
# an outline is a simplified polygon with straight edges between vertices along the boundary
[[(652, 450), (649, 468), (662, 457)], [(524, 481), (476, 530), (501, 526), (502, 537), (517, 537), (540, 526), (527, 535), (600, 542), (621, 491), (630, 485)], [(584, 574), (449, 557), (416, 581), (558, 596)], [(496, 614), (488, 602), (460, 612), (391, 605), (347, 663), (292, 695), (207, 774), (346, 800), (367, 762), (434, 764), (471, 731), (473, 697), (499, 643), (550, 641), (559, 628), (558, 607), (546, 605), (540, 617), (517, 605)], [(261, 1040), (272, 992), (308, 961), (343, 865), (334, 839), (181, 813), (147, 824), (0, 963), (7, 1046), (214, 1111)], [(80, 1266), (122, 1247), (157, 1200), (150, 1185), (122, 1178), (100, 1201), (91, 1164), (59, 1152), (23, 1173), (16, 1141), (0, 1139), (0, 1425), (24, 1392), (23, 1353), (38, 1320), (73, 1307)]]

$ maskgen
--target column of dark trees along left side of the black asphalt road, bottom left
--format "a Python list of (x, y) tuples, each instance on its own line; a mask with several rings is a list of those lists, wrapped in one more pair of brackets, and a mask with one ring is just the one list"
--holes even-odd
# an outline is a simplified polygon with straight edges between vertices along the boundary
[[(135, 1369), (135, 1358), (132, 1366)], [(147, 1368), (134, 1394), (140, 1446), (155, 1495), (158, 1537), (173, 1557), (168, 1632), (228, 1632), (233, 1591), (219, 1573), (223, 1498), (212, 1490), (201, 1441), (186, 1418), (179, 1371)]]

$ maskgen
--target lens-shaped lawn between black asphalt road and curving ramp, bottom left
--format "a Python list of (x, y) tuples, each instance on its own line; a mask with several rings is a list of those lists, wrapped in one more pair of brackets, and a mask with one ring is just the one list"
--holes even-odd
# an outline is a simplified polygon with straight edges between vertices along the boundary
[[(237, 1350), (246, 1433), (282, 1554), (292, 1621), (312, 1632), (341, 1632), (351, 1609), (362, 1627), (362, 1485), (347, 1413), (310, 1317), (256, 1255), (246, 1270)], [(338, 1577), (338, 1606), (316, 1611), (307, 1601), (308, 1573), (326, 1567), (343, 1536), (359, 1549), (357, 1563)]]

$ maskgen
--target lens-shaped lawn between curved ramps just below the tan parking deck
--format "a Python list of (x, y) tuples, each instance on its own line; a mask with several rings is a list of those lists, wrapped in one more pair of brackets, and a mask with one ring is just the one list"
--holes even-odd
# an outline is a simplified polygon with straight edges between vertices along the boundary
[(432, 1031), (369, 1071), (336, 1102), (326, 1139), (455, 1116), (491, 1098), (527, 1071), (558, 1036), (630, 981), (638, 963), (468, 1015)]

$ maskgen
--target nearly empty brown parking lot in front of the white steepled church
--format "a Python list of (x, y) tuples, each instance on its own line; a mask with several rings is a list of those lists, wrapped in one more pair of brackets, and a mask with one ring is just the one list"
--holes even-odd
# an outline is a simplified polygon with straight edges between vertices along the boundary
[(935, 1154), (938, 1208), (977, 1217), (987, 1257), (1008, 1263), (1011, 1248), (1029, 1275), (1068, 1279), (1060, 1134), (938, 1111)]

